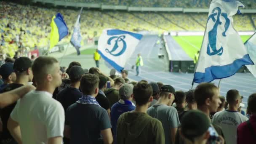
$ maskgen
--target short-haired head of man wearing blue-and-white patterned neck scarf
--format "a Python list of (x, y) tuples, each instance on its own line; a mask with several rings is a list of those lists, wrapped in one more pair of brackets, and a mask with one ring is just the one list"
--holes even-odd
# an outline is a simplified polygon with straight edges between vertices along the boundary
[(92, 74), (83, 75), (80, 88), (84, 95), (97, 95), (99, 91), (99, 76)]

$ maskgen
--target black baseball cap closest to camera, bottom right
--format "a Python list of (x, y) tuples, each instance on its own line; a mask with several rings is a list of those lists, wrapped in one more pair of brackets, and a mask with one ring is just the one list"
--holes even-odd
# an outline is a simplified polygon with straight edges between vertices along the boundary
[(209, 127), (209, 118), (198, 110), (186, 112), (181, 119), (181, 133), (187, 139), (203, 135)]

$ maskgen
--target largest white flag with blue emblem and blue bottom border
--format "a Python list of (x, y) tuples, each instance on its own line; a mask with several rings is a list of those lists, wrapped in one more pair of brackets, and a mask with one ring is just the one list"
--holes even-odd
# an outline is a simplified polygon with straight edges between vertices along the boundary
[(245, 64), (253, 64), (243, 41), (233, 27), (237, 0), (213, 0), (193, 83), (211, 82), (234, 75)]

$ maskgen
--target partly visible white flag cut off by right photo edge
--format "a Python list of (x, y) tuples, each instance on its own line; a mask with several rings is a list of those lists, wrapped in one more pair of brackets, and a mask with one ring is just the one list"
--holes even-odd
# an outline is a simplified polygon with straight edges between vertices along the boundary
[[(245, 48), (247, 49), (251, 60), (256, 64), (256, 33), (245, 42)], [(246, 67), (253, 76), (256, 77), (256, 65), (246, 65)]]

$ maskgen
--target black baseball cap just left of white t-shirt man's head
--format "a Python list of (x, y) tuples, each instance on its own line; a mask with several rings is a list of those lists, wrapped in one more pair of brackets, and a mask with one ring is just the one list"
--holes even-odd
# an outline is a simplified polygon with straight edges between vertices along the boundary
[(32, 61), (28, 57), (20, 57), (14, 61), (13, 69), (16, 73), (26, 71), (29, 67), (32, 67)]

